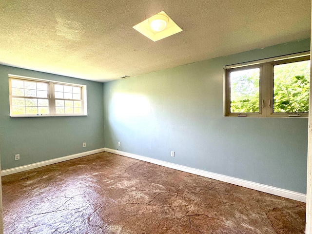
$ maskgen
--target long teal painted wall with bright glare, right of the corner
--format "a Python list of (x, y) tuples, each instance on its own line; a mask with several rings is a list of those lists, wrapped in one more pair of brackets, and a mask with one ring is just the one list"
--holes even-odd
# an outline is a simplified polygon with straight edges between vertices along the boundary
[(306, 193), (308, 119), (223, 117), (223, 67), (308, 50), (310, 39), (104, 83), (105, 147)]

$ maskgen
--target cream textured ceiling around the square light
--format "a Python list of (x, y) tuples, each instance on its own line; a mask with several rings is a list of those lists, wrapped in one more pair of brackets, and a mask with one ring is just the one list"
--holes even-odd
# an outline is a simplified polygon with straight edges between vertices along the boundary
[[(183, 32), (132, 28), (160, 11)], [(0, 64), (104, 82), (306, 39), (310, 23), (311, 0), (0, 0)]]

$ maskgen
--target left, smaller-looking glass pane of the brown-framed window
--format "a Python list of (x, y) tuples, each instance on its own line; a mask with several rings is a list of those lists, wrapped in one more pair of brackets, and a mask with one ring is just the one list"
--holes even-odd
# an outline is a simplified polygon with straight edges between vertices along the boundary
[(259, 112), (260, 69), (230, 72), (231, 113)]

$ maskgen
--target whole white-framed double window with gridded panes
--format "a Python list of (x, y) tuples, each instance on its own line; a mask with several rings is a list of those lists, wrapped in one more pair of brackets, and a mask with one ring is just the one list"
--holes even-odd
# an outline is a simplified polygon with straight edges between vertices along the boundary
[(86, 86), (9, 75), (10, 116), (84, 116)]

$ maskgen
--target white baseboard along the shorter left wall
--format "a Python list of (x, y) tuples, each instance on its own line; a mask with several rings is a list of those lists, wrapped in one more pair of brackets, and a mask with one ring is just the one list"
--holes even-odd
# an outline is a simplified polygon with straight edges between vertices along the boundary
[(54, 158), (54, 159), (50, 159), (50, 160), (46, 160), (46, 161), (42, 161), (42, 162), (36, 162), (36, 163), (28, 164), (28, 165), (25, 165), (25, 166), (20, 166), (20, 167), (15, 167), (15, 168), (11, 168), (11, 169), (1, 170), (1, 176), (7, 176), (7, 175), (10, 175), (10, 174), (27, 171), (27, 170), (30, 170), (30, 169), (43, 167), (43, 166), (51, 165), (51, 164), (54, 164), (54, 163), (71, 160), (71, 159), (78, 158), (78, 157), (93, 155), (93, 154), (97, 154), (97, 153), (104, 152), (104, 151), (105, 151), (105, 148), (101, 148), (101, 149), (97, 149), (97, 150), (90, 150), (90, 151), (78, 153), (78, 154), (75, 154), (75, 155), (58, 157), (58, 158)]

